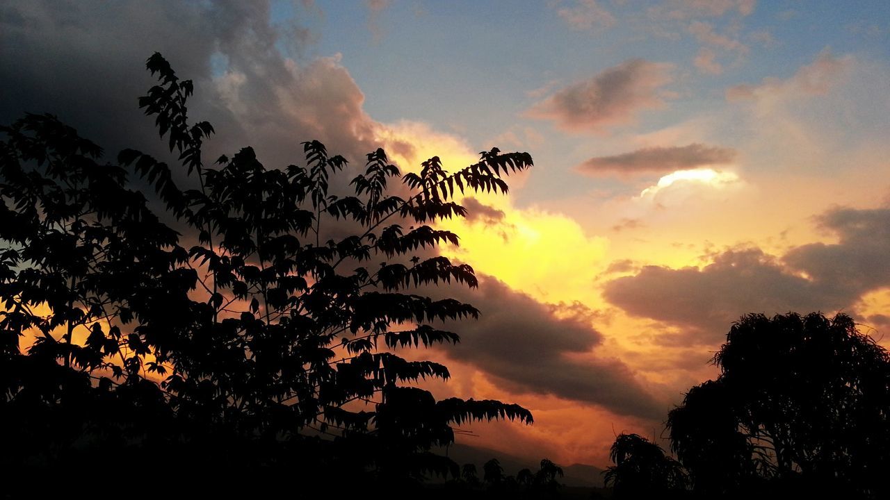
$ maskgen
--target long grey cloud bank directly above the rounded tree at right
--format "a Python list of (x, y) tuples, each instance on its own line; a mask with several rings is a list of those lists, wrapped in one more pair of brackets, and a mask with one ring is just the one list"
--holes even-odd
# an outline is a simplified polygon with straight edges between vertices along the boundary
[(632, 315), (683, 327), (692, 341), (714, 343), (748, 312), (853, 311), (862, 294), (890, 286), (890, 209), (842, 207), (817, 221), (836, 244), (797, 246), (781, 259), (732, 249), (702, 269), (646, 266), (611, 280), (604, 296)]

